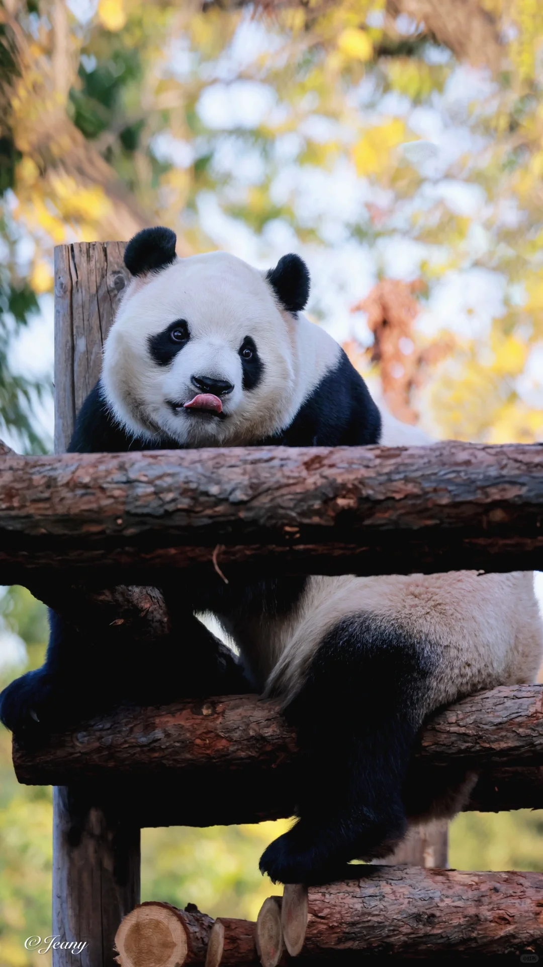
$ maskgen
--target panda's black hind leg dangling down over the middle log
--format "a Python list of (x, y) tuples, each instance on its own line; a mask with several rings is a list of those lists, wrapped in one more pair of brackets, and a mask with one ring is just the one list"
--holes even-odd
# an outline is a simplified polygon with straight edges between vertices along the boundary
[(264, 852), (281, 883), (343, 878), (388, 856), (407, 832), (402, 785), (431, 659), (375, 618), (341, 622), (319, 647), (286, 714), (299, 728), (299, 819)]

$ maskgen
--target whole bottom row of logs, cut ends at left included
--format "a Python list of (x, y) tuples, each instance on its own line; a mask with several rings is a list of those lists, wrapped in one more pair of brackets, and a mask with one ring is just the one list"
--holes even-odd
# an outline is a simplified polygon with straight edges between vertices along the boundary
[(265, 900), (257, 923), (213, 922), (198, 912), (143, 903), (119, 928), (119, 963), (277, 967), (290, 957), (341, 965), (379, 955), (476, 961), (543, 950), (543, 873), (351, 868), (354, 878), (342, 883), (286, 886), (282, 897)]

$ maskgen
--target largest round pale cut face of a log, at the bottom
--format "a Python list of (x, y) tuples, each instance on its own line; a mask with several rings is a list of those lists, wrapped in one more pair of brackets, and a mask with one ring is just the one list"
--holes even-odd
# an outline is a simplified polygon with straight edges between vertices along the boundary
[(172, 908), (161, 903), (137, 906), (115, 935), (121, 967), (182, 967), (186, 929)]

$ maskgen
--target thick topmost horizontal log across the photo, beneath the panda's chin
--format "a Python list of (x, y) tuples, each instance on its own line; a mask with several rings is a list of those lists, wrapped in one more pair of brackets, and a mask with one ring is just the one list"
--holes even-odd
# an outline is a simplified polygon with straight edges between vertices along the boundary
[(0, 582), (543, 567), (543, 445), (12, 456)]

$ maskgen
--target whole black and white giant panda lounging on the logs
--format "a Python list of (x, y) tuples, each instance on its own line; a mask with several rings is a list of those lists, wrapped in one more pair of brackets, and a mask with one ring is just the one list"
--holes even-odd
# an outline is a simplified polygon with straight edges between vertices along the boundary
[[(129, 242), (131, 281), (71, 451), (427, 442), (380, 410), (340, 346), (304, 317), (309, 276), (297, 255), (262, 273), (224, 252), (180, 259), (175, 243), (165, 228)], [(213, 575), (196, 588), (175, 574), (164, 593), (176, 633), (161, 675), (143, 654), (128, 680), (126, 656), (96, 641), (83, 673), (52, 615), (43, 668), (4, 690), (0, 718), (24, 732), (107, 701), (164, 701), (198, 687), (193, 671), (208, 675), (203, 690), (226, 690), (206, 668), (213, 649), (193, 616), (212, 611), (250, 687), (278, 696), (299, 730), (298, 820), (261, 858), (284, 883), (331, 879), (353, 859), (389, 854), (410, 820), (453, 814), (473, 779), (427, 774), (410, 784), (421, 724), (478, 689), (532, 682), (541, 662), (525, 572), (243, 586)]]

